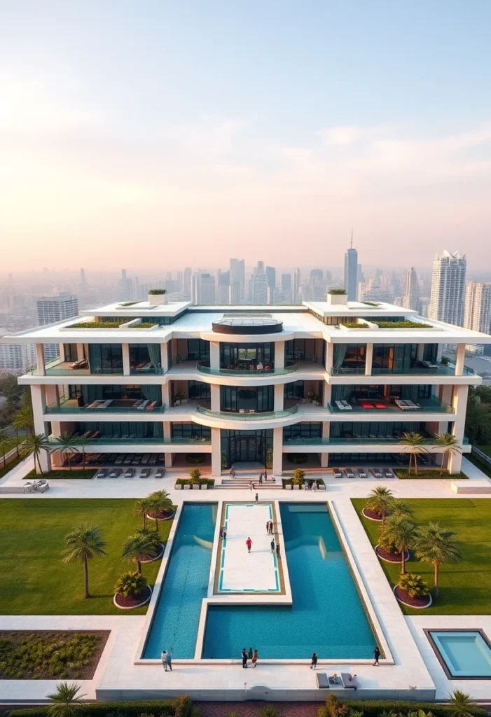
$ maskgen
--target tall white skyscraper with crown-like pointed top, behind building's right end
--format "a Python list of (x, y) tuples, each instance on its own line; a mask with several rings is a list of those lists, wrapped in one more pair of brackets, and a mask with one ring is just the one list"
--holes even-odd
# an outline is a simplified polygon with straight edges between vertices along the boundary
[(428, 318), (462, 326), (466, 265), (465, 255), (460, 252), (450, 254), (444, 250), (435, 256)]

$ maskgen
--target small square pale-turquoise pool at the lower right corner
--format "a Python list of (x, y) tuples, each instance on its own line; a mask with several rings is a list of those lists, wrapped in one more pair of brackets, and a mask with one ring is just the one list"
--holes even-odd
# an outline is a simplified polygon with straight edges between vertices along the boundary
[(491, 645), (482, 630), (425, 630), (449, 679), (491, 680)]

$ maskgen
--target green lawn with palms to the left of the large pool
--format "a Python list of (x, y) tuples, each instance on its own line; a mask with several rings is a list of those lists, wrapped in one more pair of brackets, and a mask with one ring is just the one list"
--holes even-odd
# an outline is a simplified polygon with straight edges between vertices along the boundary
[[(135, 500), (43, 498), (0, 501), (0, 614), (144, 614), (113, 605), (113, 587), (131, 564), (121, 560), (125, 539), (140, 526)], [(93, 597), (83, 597), (83, 568), (63, 563), (65, 535), (79, 523), (100, 528), (107, 555), (90, 561)], [(172, 521), (159, 521), (163, 541)], [(153, 584), (161, 562), (144, 564)]]

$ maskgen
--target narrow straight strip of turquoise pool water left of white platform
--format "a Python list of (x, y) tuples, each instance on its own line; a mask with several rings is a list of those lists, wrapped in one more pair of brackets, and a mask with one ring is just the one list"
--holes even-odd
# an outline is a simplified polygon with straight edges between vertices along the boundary
[(216, 503), (186, 503), (173, 541), (166, 577), (143, 657), (192, 659), (196, 647), (201, 600), (206, 597)]

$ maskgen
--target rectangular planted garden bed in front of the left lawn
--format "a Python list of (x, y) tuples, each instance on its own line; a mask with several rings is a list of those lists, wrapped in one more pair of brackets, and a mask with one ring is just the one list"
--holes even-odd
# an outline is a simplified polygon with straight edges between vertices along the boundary
[(91, 680), (109, 631), (0, 632), (1, 680)]

